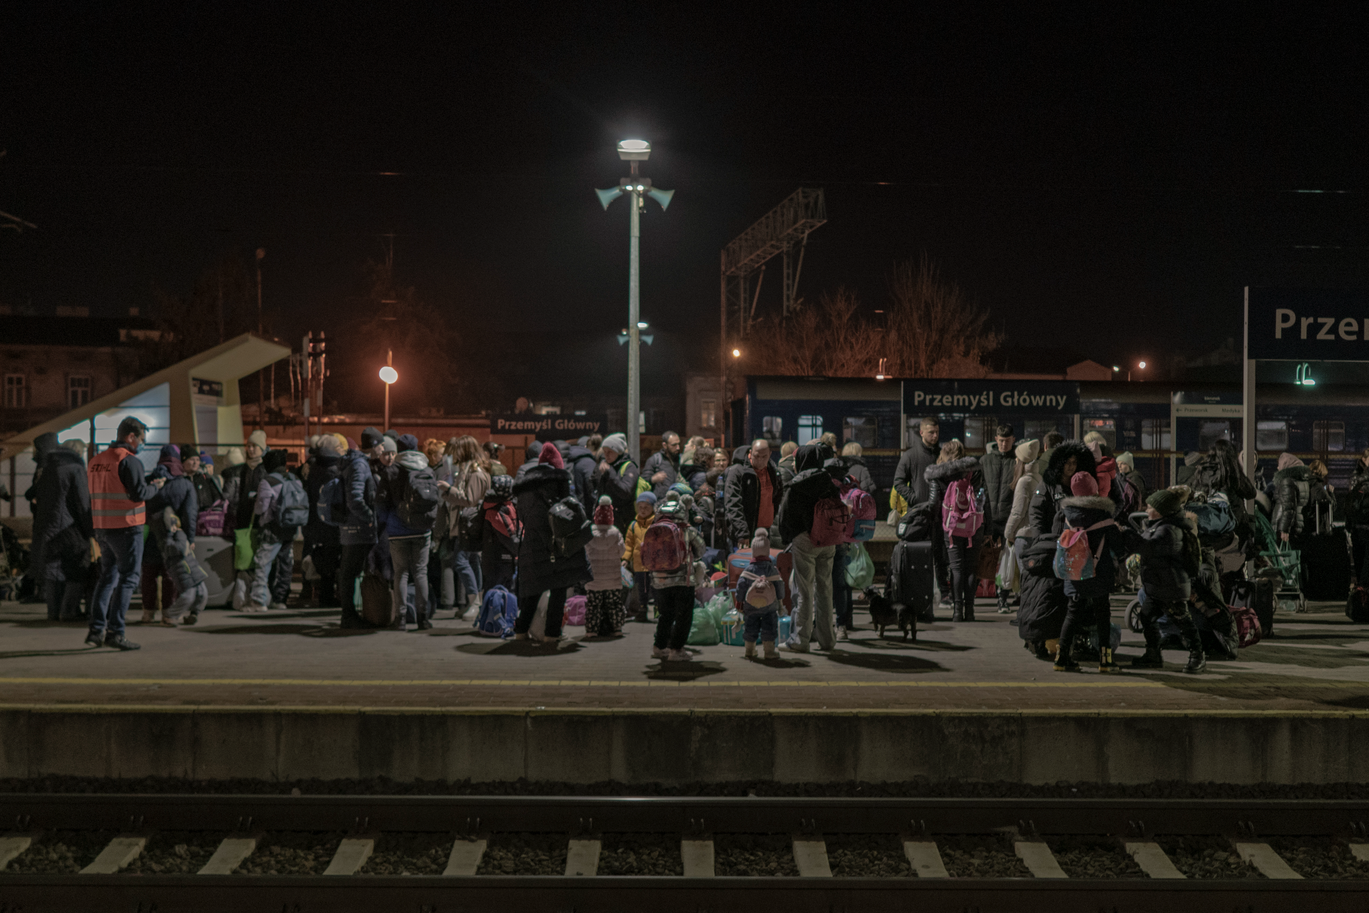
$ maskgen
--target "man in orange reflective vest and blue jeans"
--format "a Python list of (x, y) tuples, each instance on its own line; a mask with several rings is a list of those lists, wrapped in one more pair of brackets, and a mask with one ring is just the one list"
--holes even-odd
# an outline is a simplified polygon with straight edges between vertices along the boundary
[(96, 542), (100, 543), (100, 583), (90, 605), (90, 646), (137, 650), (123, 636), (129, 601), (138, 589), (142, 569), (142, 526), (148, 501), (164, 479), (146, 482), (146, 470), (137, 457), (148, 437), (148, 426), (126, 417), (108, 450), (97, 453), (86, 467), (90, 482), (90, 513)]

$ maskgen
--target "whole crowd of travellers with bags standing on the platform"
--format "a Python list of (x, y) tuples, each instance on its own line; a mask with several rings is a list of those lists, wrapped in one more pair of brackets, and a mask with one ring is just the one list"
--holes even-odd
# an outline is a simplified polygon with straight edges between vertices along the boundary
[[(92, 646), (138, 649), (126, 636), (126, 613), (140, 586), (144, 624), (197, 621), (208, 598), (197, 532), (234, 543), (231, 598), (244, 612), (286, 606), (293, 543), (303, 538), (303, 598), (340, 606), (344, 628), (422, 631), (438, 612), (474, 619), (486, 594), (502, 589), (517, 600), (515, 638), (554, 639), (567, 601), (583, 594), (591, 632), (619, 636), (627, 620), (649, 621), (654, 609), (652, 656), (686, 661), (695, 587), (726, 556), (747, 548), (752, 565), (738, 591), (747, 606), (747, 656), (757, 643), (765, 656), (805, 653), (815, 641), (830, 650), (854, 627), (847, 546), (816, 541), (815, 508), (842, 489), (873, 494), (876, 483), (860, 445), (847, 442), (838, 454), (831, 434), (778, 452), (761, 438), (728, 454), (704, 438), (667, 433), (641, 467), (622, 434), (533, 442), (513, 472), (496, 442), (481, 445), (470, 435), (420, 442), (366, 428), (359, 441), (314, 435), (294, 468), (285, 450), (268, 449), (263, 431), (229, 450), (222, 474), (208, 453), (166, 445), (149, 474), (138, 457), (145, 438), (146, 428), (126, 419), (89, 465), (82, 441), (36, 441), (40, 472), (27, 493), (31, 567), (48, 617), (86, 621)], [(1223, 497), (1239, 548), (1247, 548), (1246, 501), (1257, 491), (1227, 441), (1186, 459), (1183, 476), (1181, 485), (1150, 493), (1131, 454), (1114, 454), (1095, 433), (1083, 441), (1055, 433), (1019, 441), (1010, 424), (999, 424), (994, 446), (972, 457), (960, 441), (942, 442), (938, 420), (927, 417), (898, 463), (891, 506), (898, 516), (930, 515), (920, 528), (931, 531), (936, 589), (953, 621), (975, 620), (979, 579), (987, 574), (995, 578), (999, 612), (1029, 619), (1046, 604), (1064, 606), (1058, 636), (1032, 635), (1023, 621), (1038, 656), (1060, 671), (1079, 668), (1072, 635), (1088, 630), (1101, 645), (1099, 668), (1113, 671), (1108, 597), (1118, 579), (1139, 574), (1149, 600), (1146, 653), (1135, 664), (1158, 663), (1157, 623), (1165, 617), (1181, 632), (1188, 671), (1195, 671), (1202, 650), (1191, 613), (1203, 556), (1190, 541), (1186, 501)], [(1325, 478), (1320, 461), (1280, 457), (1264, 494), (1284, 541), (1302, 532), (1309, 505), (1333, 501)], [(1361, 571), (1369, 560), (1369, 452), (1350, 487), (1354, 569), (1369, 579), (1369, 569)], [(1150, 516), (1149, 526), (1129, 522), (1138, 512)], [(585, 535), (567, 534), (565, 517)], [(680, 530), (679, 565), (665, 569), (643, 558), (663, 519)], [(1087, 575), (1061, 579), (1054, 567), (1066, 531), (1079, 531), (1092, 556)], [(986, 568), (986, 550), (997, 556), (993, 568)], [(771, 560), (779, 552), (793, 563), (783, 578)], [(1128, 568), (1128, 556), (1138, 556), (1139, 568)], [(97, 575), (89, 572), (92, 561)], [(1045, 565), (1050, 574), (1043, 575)], [(794, 620), (787, 641), (776, 643), (767, 613), (786, 593)], [(545, 623), (533, 631), (539, 606)]]

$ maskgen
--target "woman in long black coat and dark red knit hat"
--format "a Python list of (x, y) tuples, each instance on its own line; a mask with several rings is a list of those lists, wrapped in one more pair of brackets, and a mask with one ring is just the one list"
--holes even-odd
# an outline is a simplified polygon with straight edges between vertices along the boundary
[(517, 516), (523, 523), (523, 541), (517, 553), (517, 621), (513, 638), (528, 639), (537, 602), (550, 590), (546, 601), (546, 636), (561, 636), (561, 616), (565, 612), (568, 589), (590, 579), (590, 565), (585, 549), (554, 557), (552, 520), (548, 511), (571, 494), (571, 474), (554, 443), (543, 443), (538, 463), (530, 467), (513, 485)]

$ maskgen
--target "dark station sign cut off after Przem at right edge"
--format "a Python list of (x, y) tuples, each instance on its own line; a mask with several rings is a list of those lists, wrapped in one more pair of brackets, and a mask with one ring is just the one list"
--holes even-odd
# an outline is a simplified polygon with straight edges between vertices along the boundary
[(1246, 357), (1369, 361), (1369, 292), (1250, 289)]

